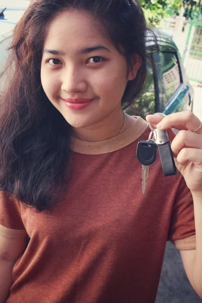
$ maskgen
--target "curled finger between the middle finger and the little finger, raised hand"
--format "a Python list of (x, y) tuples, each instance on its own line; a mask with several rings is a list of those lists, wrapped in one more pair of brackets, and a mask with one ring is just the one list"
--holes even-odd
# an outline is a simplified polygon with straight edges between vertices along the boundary
[(196, 148), (183, 148), (177, 156), (177, 162), (186, 165), (187, 162), (202, 165), (202, 150)]

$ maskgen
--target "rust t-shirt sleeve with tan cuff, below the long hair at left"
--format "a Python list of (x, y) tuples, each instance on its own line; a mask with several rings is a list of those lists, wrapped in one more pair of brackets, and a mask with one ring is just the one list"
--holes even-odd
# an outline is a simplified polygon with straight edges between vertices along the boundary
[(20, 202), (0, 191), (0, 234), (7, 238), (26, 237), (27, 232), (21, 219)]

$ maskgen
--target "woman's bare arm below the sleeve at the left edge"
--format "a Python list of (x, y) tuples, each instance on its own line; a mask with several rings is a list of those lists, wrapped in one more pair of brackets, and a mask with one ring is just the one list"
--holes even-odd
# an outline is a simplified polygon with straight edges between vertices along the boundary
[(0, 235), (0, 303), (5, 303), (12, 286), (12, 271), (26, 248), (26, 237), (10, 239)]

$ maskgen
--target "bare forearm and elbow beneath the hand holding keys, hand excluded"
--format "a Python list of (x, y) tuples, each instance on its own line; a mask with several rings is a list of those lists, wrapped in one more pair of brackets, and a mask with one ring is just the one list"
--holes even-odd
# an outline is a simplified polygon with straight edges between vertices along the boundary
[(194, 290), (202, 298), (202, 195), (193, 194), (196, 249), (180, 250), (185, 272)]

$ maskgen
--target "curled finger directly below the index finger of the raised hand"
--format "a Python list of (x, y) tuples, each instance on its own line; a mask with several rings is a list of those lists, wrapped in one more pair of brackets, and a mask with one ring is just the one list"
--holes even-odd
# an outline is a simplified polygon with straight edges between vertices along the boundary
[(185, 146), (202, 149), (202, 136), (188, 130), (181, 130), (173, 139), (171, 149), (177, 156)]

